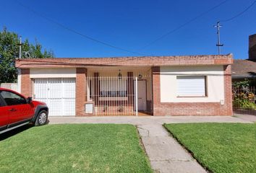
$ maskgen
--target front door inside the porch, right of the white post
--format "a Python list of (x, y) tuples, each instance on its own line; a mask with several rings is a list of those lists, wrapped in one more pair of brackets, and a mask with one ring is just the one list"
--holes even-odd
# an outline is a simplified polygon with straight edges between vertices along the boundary
[(138, 110), (147, 109), (146, 81), (138, 82)]

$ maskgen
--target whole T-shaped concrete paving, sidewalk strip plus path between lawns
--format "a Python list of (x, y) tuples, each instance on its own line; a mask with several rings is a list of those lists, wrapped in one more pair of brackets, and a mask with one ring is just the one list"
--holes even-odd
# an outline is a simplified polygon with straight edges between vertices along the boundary
[(251, 123), (236, 117), (49, 117), (50, 124), (116, 123), (137, 125), (142, 143), (155, 172), (206, 172), (200, 164), (172, 138), (163, 123)]

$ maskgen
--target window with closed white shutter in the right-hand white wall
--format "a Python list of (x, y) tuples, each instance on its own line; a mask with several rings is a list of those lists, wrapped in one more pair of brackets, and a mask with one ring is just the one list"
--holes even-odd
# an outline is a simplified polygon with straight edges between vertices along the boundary
[(177, 76), (178, 97), (205, 97), (206, 76)]

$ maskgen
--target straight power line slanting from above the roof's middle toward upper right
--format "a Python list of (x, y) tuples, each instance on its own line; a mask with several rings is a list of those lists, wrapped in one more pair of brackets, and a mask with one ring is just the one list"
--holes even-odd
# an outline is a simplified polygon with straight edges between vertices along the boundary
[[(226, 1), (229, 1), (229, 0), (226, 0)], [(169, 31), (169, 32), (166, 32), (166, 34), (164, 34), (164, 35), (162, 35), (161, 37), (158, 37), (157, 39), (155, 39), (155, 40), (153, 40), (152, 42), (148, 43), (148, 45), (145, 45), (145, 46), (144, 46), (143, 48), (141, 48), (140, 50), (143, 50), (143, 49), (147, 48), (148, 46), (153, 45), (153, 44), (156, 43), (158, 40), (161, 40), (163, 37), (166, 37), (167, 35), (170, 35), (170, 34), (176, 32), (177, 30), (179, 30), (179, 29), (181, 29), (182, 27), (188, 25), (189, 23), (194, 22), (196, 19), (198, 19), (198, 18), (202, 17), (203, 15), (208, 14), (208, 12), (211, 12), (211, 11), (213, 11), (214, 9), (218, 8), (218, 6), (221, 6), (222, 4), (225, 4), (226, 1), (222, 1), (220, 4), (218, 4), (218, 5), (216, 5), (216, 6), (213, 6), (212, 8), (208, 9), (208, 11), (206, 11), (206, 12), (202, 12), (201, 14), (197, 15), (197, 17), (194, 17), (194, 18), (190, 19), (188, 22), (185, 22), (184, 24), (179, 25), (178, 27), (174, 28), (174, 30), (171, 30), (171, 31)]]

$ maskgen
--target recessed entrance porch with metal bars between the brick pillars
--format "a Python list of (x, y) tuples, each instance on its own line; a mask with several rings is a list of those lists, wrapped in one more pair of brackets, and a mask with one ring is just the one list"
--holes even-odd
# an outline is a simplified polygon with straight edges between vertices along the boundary
[(151, 115), (150, 68), (88, 68), (85, 113), (106, 115)]

